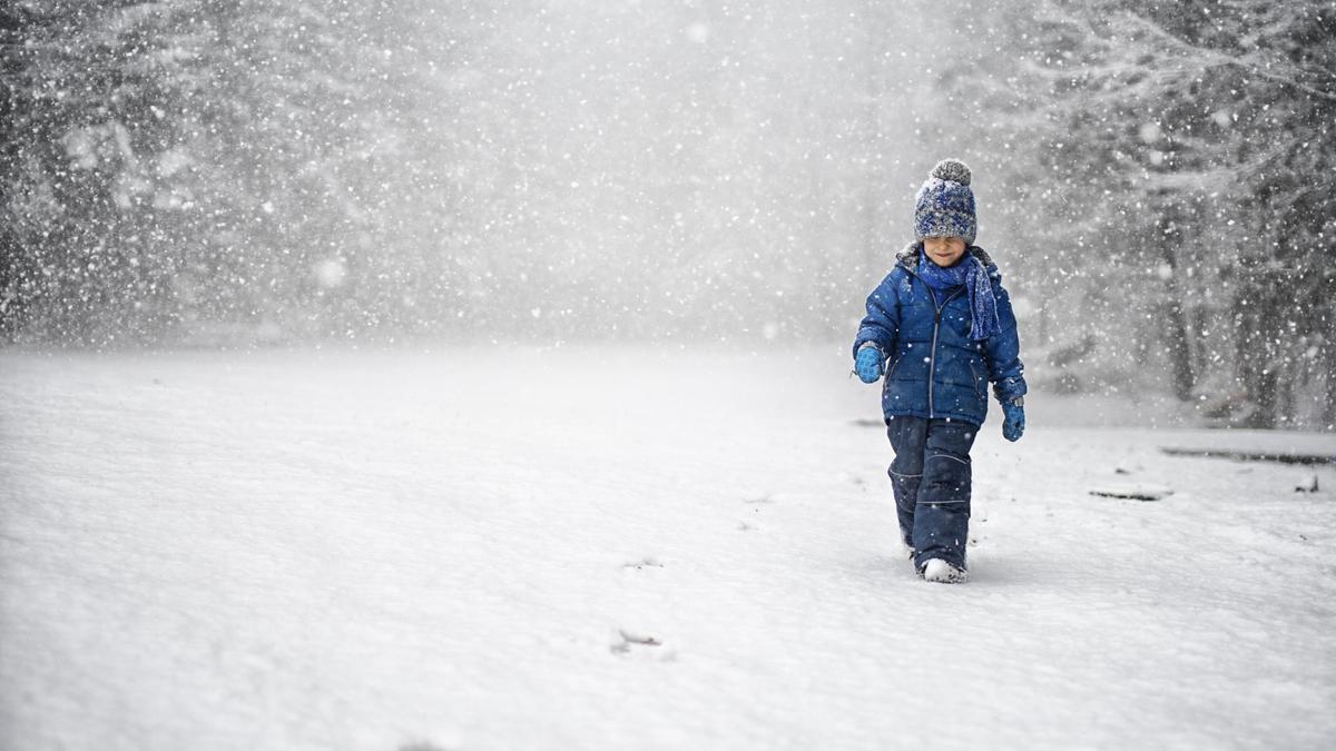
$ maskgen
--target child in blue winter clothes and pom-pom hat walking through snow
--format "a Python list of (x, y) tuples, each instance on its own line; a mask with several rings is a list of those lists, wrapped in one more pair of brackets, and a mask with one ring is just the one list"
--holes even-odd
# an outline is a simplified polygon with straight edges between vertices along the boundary
[(886, 378), (895, 512), (929, 581), (967, 579), (970, 446), (987, 414), (989, 382), (1005, 413), (1002, 436), (1015, 441), (1025, 430), (1015, 315), (998, 267), (974, 246), (975, 229), (970, 168), (946, 159), (915, 199), (918, 242), (867, 298), (854, 339), (858, 377)]

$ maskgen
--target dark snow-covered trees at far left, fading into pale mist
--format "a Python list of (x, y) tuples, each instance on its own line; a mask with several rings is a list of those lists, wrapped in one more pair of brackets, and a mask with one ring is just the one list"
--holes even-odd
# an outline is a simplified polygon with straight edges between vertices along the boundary
[[(428, 3), (398, 5), (446, 25)], [(429, 253), (446, 219), (405, 222), (458, 200), (462, 175), (415, 171), (449, 139), (405, 138), (450, 120), (449, 79), (415, 68), (379, 9), (9, 4), (9, 334), (106, 346), (333, 333), (411, 323), (420, 295), (450, 294), (428, 281), (450, 271)]]

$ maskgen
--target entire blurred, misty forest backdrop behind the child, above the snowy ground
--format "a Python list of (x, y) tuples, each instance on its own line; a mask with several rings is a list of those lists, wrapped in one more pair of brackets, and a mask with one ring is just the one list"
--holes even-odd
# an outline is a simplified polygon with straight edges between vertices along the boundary
[(1336, 424), (1336, 3), (8, 0), (11, 345), (852, 335), (943, 156), (1039, 388)]

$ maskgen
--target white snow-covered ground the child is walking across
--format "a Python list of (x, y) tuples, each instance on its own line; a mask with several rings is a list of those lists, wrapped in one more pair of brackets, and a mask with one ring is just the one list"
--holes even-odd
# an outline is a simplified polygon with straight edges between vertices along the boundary
[(1336, 470), (1158, 450), (1333, 436), (994, 408), (930, 584), (848, 367), (0, 353), (0, 747), (1336, 747)]

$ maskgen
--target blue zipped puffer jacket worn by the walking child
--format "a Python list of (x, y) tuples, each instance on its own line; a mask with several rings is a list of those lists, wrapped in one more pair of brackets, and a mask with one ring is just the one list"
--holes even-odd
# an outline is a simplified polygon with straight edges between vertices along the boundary
[(951, 418), (982, 425), (987, 416), (987, 385), (999, 402), (1025, 394), (1025, 366), (1015, 333), (1011, 298), (1002, 274), (983, 249), (970, 246), (989, 271), (998, 302), (1001, 330), (987, 339), (970, 339), (970, 303), (965, 287), (949, 293), (939, 306), (918, 278), (922, 243), (898, 257), (895, 269), (867, 298), (867, 317), (854, 339), (854, 353), (875, 342), (887, 355), (882, 412), (886, 418), (912, 416)]

